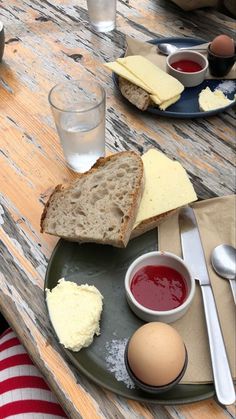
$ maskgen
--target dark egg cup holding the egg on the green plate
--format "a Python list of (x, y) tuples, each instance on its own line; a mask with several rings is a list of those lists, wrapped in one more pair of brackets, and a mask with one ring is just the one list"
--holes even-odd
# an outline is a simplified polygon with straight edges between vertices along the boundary
[(183, 377), (187, 365), (188, 365), (188, 353), (187, 353), (187, 349), (185, 347), (185, 362), (184, 362), (184, 366), (182, 371), (180, 372), (180, 374), (178, 375), (178, 377), (176, 377), (175, 380), (171, 381), (170, 383), (164, 385), (164, 386), (150, 386), (148, 384), (145, 384), (143, 381), (139, 380), (136, 375), (134, 375), (134, 373), (132, 372), (130, 366), (129, 366), (129, 361), (128, 361), (128, 345), (129, 345), (129, 341), (126, 345), (125, 348), (125, 354), (124, 354), (124, 358), (125, 358), (125, 366), (126, 366), (126, 370), (131, 378), (131, 380), (133, 380), (133, 382), (136, 384), (137, 387), (139, 387), (141, 390), (146, 391), (147, 393), (150, 394), (160, 394), (160, 393), (164, 393), (168, 390), (170, 390), (172, 387), (176, 386), (176, 384), (179, 383), (179, 381), (181, 380), (181, 378)]

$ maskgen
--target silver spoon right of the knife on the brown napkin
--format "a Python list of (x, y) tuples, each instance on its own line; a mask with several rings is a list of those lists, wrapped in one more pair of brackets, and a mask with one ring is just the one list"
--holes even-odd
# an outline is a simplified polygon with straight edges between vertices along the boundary
[(236, 304), (236, 249), (227, 244), (221, 244), (213, 250), (211, 263), (215, 272), (228, 279)]

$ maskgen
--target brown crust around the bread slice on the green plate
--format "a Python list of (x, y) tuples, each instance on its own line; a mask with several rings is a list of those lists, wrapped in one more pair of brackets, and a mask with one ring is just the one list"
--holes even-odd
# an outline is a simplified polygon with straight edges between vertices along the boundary
[[(79, 183), (88, 176), (92, 176), (94, 173), (97, 173), (98, 170), (102, 171), (102, 169), (104, 167), (106, 167), (106, 165), (111, 162), (111, 161), (116, 161), (117, 159), (121, 159), (124, 157), (131, 157), (131, 158), (135, 158), (137, 159), (137, 165), (139, 168), (139, 174), (136, 175), (138, 176), (136, 179), (136, 187), (135, 189), (130, 192), (130, 198), (132, 201), (132, 205), (130, 206), (130, 209), (128, 212), (125, 213), (125, 216), (122, 218), (122, 222), (120, 225), (120, 229), (119, 229), (119, 237), (114, 239), (112, 237), (107, 236), (106, 238), (102, 239), (102, 240), (97, 240), (97, 238), (94, 238), (93, 235), (91, 236), (87, 236), (86, 238), (83, 237), (76, 237), (76, 236), (71, 236), (68, 234), (57, 234), (56, 232), (52, 232), (52, 231), (48, 231), (47, 227), (46, 227), (46, 220), (48, 217), (48, 212), (50, 207), (52, 206), (53, 202), (57, 199), (60, 199), (60, 195), (63, 194), (64, 192), (67, 191), (73, 191), (73, 188), (76, 186), (79, 186)], [(112, 246), (115, 247), (125, 247), (129, 241), (131, 232), (132, 232), (132, 228), (133, 228), (133, 224), (135, 222), (136, 216), (137, 216), (137, 212), (138, 212), (138, 208), (140, 205), (140, 201), (142, 198), (142, 193), (143, 193), (143, 189), (144, 189), (144, 169), (143, 169), (143, 162), (141, 157), (135, 153), (134, 151), (123, 151), (120, 153), (116, 153), (116, 154), (112, 154), (110, 156), (107, 157), (101, 157), (97, 160), (97, 162), (92, 166), (92, 168), (90, 170), (88, 170), (85, 173), (79, 174), (78, 178), (73, 181), (72, 183), (70, 183), (68, 186), (63, 186), (63, 185), (57, 185), (54, 189), (54, 191), (52, 192), (52, 194), (50, 195), (47, 203), (45, 204), (43, 213), (41, 215), (41, 220), (40, 220), (40, 231), (41, 233), (48, 233), (48, 234), (52, 234), (52, 235), (56, 235), (59, 237), (62, 237), (66, 240), (71, 240), (71, 241), (78, 241), (80, 243), (83, 242), (95, 242), (95, 243), (102, 243), (102, 244), (110, 244)]]

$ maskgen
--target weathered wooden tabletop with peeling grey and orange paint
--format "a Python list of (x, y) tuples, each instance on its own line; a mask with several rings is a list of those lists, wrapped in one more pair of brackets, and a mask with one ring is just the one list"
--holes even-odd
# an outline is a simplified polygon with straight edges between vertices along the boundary
[(187, 169), (199, 198), (235, 193), (235, 119), (181, 120), (141, 113), (115, 90), (105, 61), (120, 56), (125, 35), (212, 39), (232, 35), (235, 20), (211, 10), (182, 12), (164, 0), (118, 1), (117, 29), (90, 28), (82, 0), (0, 1), (6, 44), (0, 64), (0, 310), (70, 418), (226, 418), (213, 399), (190, 405), (139, 404), (99, 388), (64, 358), (49, 325), (44, 276), (56, 239), (41, 235), (43, 205), (72, 179), (47, 95), (59, 81), (89, 73), (107, 92), (107, 150), (157, 147)]

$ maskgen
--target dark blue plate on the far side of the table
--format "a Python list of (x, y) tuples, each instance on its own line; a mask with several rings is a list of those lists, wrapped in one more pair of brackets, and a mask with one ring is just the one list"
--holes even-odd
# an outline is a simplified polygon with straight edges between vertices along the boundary
[[(169, 42), (177, 47), (190, 47), (194, 45), (199, 45), (202, 43), (207, 42), (204, 39), (198, 38), (161, 38), (161, 39), (153, 39), (149, 41), (151, 44), (158, 45), (162, 42)], [(113, 81), (116, 87), (119, 89), (118, 85), (118, 77), (116, 74), (113, 73)], [(222, 79), (208, 79), (204, 80), (199, 86), (195, 87), (186, 87), (181, 94), (181, 98), (178, 102), (171, 105), (167, 110), (162, 111), (159, 108), (149, 107), (147, 109), (148, 112), (151, 112), (156, 115), (161, 116), (169, 116), (172, 118), (199, 118), (199, 117), (208, 117), (211, 115), (216, 115), (218, 113), (224, 112), (226, 109), (231, 108), (233, 105), (236, 104), (236, 101), (227, 105), (223, 108), (214, 109), (212, 111), (201, 112), (199, 110), (198, 105), (198, 95), (201, 90), (205, 89), (207, 86), (211, 90), (215, 90), (220, 83), (225, 80)], [(236, 94), (236, 88), (234, 88), (233, 92), (231, 93), (224, 93), (229, 99), (234, 99), (234, 95)], [(130, 102), (129, 102), (130, 103)]]

